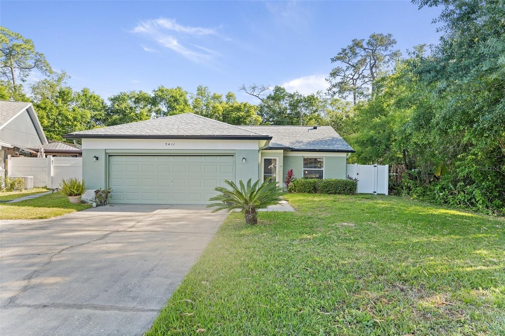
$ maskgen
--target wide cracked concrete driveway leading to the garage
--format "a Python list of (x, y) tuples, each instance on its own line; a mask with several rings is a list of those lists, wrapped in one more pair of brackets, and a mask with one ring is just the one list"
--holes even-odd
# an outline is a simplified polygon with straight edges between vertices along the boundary
[(0, 220), (0, 335), (140, 335), (226, 217), (114, 205)]

